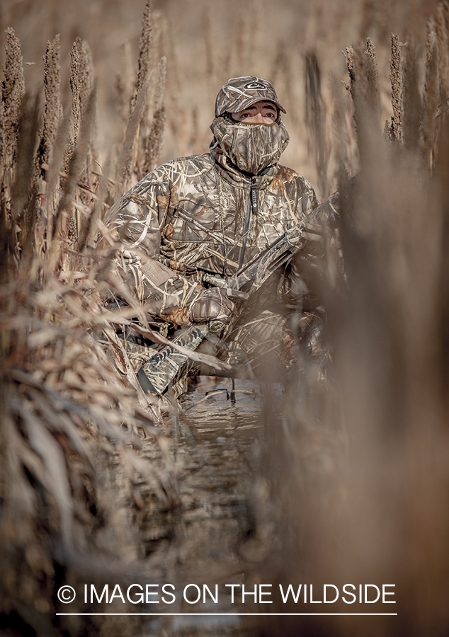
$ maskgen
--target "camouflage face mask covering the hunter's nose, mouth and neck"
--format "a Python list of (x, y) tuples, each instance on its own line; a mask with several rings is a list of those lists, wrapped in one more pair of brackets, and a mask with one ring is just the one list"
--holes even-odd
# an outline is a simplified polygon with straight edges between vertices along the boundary
[(290, 139), (280, 120), (267, 126), (230, 122), (226, 117), (215, 117), (210, 130), (217, 146), (232, 163), (251, 175), (258, 175), (267, 166), (277, 163)]

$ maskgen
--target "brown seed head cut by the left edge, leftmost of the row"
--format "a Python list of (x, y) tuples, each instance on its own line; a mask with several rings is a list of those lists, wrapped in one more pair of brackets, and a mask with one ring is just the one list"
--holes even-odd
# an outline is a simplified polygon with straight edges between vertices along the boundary
[(21, 103), (25, 93), (21, 44), (13, 28), (6, 29), (6, 61), (4, 81), (1, 83), (1, 99), (4, 104), (4, 156), (6, 166), (15, 161)]

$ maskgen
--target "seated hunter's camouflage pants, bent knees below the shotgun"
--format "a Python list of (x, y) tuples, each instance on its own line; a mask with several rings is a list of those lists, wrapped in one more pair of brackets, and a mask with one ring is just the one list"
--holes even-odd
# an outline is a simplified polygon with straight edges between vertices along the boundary
[[(198, 351), (229, 363), (232, 366), (232, 371), (227, 374), (229, 377), (283, 382), (300, 352), (306, 356), (322, 353), (323, 326), (322, 311), (285, 316), (265, 310), (254, 319), (237, 323), (224, 340), (216, 337), (205, 340)], [(151, 380), (151, 357), (155, 348), (127, 343), (127, 351), (135, 371), (142, 369)], [(198, 374), (215, 376), (217, 372), (211, 367), (189, 362), (171, 387), (172, 394), (175, 397), (183, 394), (188, 377)]]

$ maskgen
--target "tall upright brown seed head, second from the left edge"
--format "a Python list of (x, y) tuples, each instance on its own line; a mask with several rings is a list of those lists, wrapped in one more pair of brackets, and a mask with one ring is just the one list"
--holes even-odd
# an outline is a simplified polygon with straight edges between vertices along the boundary
[(59, 101), (59, 85), (61, 84), (61, 69), (59, 66), (59, 35), (52, 42), (47, 42), (47, 50), (44, 56), (44, 125), (40, 147), (38, 150), (38, 162), (50, 163), (52, 151), (59, 121), (62, 118), (62, 105)]

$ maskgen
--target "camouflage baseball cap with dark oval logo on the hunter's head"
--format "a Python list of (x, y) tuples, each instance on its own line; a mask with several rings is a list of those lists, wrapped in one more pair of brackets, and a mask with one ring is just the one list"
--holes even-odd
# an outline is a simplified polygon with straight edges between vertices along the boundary
[(278, 102), (273, 84), (268, 80), (254, 75), (232, 77), (218, 91), (215, 117), (220, 117), (223, 113), (240, 113), (260, 101), (273, 102), (283, 113), (286, 112)]

